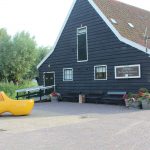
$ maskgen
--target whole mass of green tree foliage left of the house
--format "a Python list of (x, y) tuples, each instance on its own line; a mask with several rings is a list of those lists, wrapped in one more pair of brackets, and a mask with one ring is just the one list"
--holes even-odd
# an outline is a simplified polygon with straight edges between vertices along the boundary
[(24, 78), (33, 78), (37, 64), (48, 51), (48, 47), (38, 47), (34, 37), (27, 32), (11, 37), (5, 29), (0, 29), (0, 81), (17, 83)]

